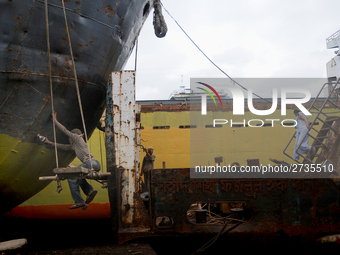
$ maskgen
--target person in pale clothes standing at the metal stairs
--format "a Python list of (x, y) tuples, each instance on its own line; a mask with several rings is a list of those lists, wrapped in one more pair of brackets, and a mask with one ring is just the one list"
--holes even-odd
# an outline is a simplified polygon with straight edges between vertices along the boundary
[[(315, 148), (308, 144), (309, 141), (309, 130), (311, 129), (311, 125), (308, 121), (306, 115), (304, 115), (299, 110), (294, 110), (294, 114), (296, 116), (296, 143), (294, 148), (293, 158), (295, 160), (299, 160), (299, 154), (306, 154), (310, 151), (309, 157), (313, 157), (315, 155)], [(306, 135), (307, 134), (307, 135)], [(299, 149), (298, 149), (299, 148)], [(299, 154), (298, 154), (299, 153)]]

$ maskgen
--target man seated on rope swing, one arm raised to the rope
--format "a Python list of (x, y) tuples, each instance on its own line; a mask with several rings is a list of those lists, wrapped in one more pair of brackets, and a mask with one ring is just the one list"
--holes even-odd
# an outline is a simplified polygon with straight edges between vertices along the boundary
[[(87, 144), (85, 143), (83, 136), (84, 134), (78, 129), (72, 129), (71, 131), (67, 130), (62, 124), (60, 124), (57, 120), (57, 113), (52, 113), (53, 121), (55, 122), (56, 126), (69, 137), (70, 144), (58, 144), (56, 143), (56, 146), (62, 150), (74, 150), (76, 153), (76, 156), (79, 158), (79, 160), (82, 162), (80, 167), (84, 168), (91, 168), (95, 171), (100, 171), (100, 164), (97, 160), (94, 159), (94, 157), (91, 155)], [(49, 141), (46, 137), (46, 140), (44, 143), (55, 145), (55, 143)], [(95, 190), (87, 181), (86, 179), (68, 179), (68, 184), (70, 186), (70, 191), (72, 198), (75, 202), (74, 205), (70, 207), (70, 209), (76, 209), (76, 208), (83, 208), (86, 207), (86, 204), (89, 204), (92, 202), (94, 197), (97, 195), (97, 190)], [(79, 186), (87, 195), (86, 200), (82, 198), (80, 195)]]

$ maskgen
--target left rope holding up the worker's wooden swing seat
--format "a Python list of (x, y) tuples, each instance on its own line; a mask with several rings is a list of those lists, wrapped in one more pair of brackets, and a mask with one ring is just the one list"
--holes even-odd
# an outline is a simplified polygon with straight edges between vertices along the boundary
[[(49, 78), (50, 78), (50, 91), (51, 91), (51, 107), (52, 112), (54, 112), (54, 101), (53, 101), (53, 86), (52, 86), (52, 67), (51, 67), (51, 47), (50, 47), (50, 30), (48, 26), (48, 5), (47, 0), (45, 0), (45, 20), (46, 20), (46, 37), (47, 37), (47, 55), (48, 55), (48, 70), (49, 70)], [(53, 137), (54, 141), (57, 141), (57, 134), (55, 131), (55, 122), (53, 120)], [(56, 167), (59, 167), (58, 163), (58, 149), (57, 149), (57, 143), (54, 143), (54, 151), (55, 151), (55, 162)], [(57, 177), (57, 192), (60, 193), (62, 190), (61, 183), (59, 178)]]

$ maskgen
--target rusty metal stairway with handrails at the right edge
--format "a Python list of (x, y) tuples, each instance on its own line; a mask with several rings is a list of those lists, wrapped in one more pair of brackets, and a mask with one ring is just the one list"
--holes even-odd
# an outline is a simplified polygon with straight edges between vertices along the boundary
[[(331, 86), (331, 90), (329, 90), (328, 97), (323, 101), (321, 107), (318, 106), (320, 100), (320, 94), (324, 90), (326, 86)], [(301, 143), (299, 144), (297, 148), (297, 154), (300, 156), (300, 160), (295, 160), (293, 158), (294, 150), (291, 150), (288, 152), (288, 147), (292, 142), (295, 144), (296, 140), (296, 131), (289, 140), (288, 144), (286, 145), (285, 149), (283, 150), (283, 153), (294, 160), (295, 162), (299, 164), (322, 164), (325, 163), (326, 160), (330, 160), (332, 158), (333, 160), (337, 161), (337, 156), (333, 155), (335, 153), (336, 148), (339, 146), (338, 141), (340, 138), (340, 132), (339, 132), (339, 123), (340, 123), (340, 106), (336, 104), (336, 102), (339, 100), (338, 98), (334, 98), (334, 94), (337, 94), (340, 91), (340, 78), (337, 80), (337, 82), (328, 82), (325, 83), (321, 90), (319, 91), (318, 95), (315, 97), (314, 101), (312, 102), (311, 106), (309, 107), (308, 111), (316, 113), (315, 119), (311, 123), (311, 130), (314, 130), (316, 132), (316, 136), (313, 136), (310, 132), (308, 132), (305, 137), (302, 139), (305, 140), (307, 138), (312, 139), (312, 148), (315, 148), (315, 154), (312, 155), (311, 150), (306, 154), (300, 154), (298, 151), (301, 147)], [(328, 112), (326, 113), (324, 111), (324, 108), (326, 106), (333, 105), (335, 107), (334, 112)], [(315, 111), (316, 110), (316, 111)], [(331, 116), (329, 116), (331, 114)], [(320, 121), (322, 124), (322, 127), (320, 130), (317, 130), (314, 128), (314, 125), (317, 121)], [(308, 136), (308, 137), (307, 137)], [(338, 137), (339, 136), (339, 137)], [(334, 149), (333, 149), (334, 148)], [(302, 158), (302, 160), (301, 160)], [(336, 163), (336, 162), (333, 162)]]

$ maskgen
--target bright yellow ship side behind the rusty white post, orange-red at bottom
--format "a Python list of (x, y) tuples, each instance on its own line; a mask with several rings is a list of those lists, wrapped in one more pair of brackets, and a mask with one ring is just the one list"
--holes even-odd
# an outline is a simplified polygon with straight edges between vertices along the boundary
[[(332, 111), (332, 109), (325, 110)], [(217, 114), (217, 113), (216, 113)], [(224, 112), (224, 118), (232, 118), (232, 113)], [(230, 115), (228, 117), (228, 115)], [(215, 115), (214, 115), (215, 116)], [(216, 115), (215, 117), (221, 117)], [(269, 159), (291, 161), (283, 154), (287, 142), (293, 135), (294, 127), (283, 127), (280, 122), (275, 122), (274, 127), (230, 127), (230, 124), (222, 125), (220, 128), (208, 128), (205, 125), (212, 124), (212, 119), (206, 119), (202, 123), (196, 123), (195, 128), (188, 128), (190, 123), (190, 111), (144, 111), (142, 108), (141, 120), (142, 144), (145, 147), (152, 146), (156, 161), (154, 168), (162, 168), (165, 162), (166, 168), (189, 168), (190, 167), (190, 134), (200, 134), (209, 129), (208, 136), (203, 137), (199, 144), (192, 146), (210, 146), (209, 162), (200, 161), (200, 154), (191, 157), (197, 164), (214, 164), (215, 157), (223, 157), (222, 165), (238, 161), (241, 165), (247, 164), (247, 159), (258, 158), (260, 164), (273, 164)], [(281, 116), (281, 111), (275, 111), (267, 119), (295, 119), (293, 112), (288, 110), (287, 116)], [(243, 119), (258, 119), (246, 112), (245, 116), (234, 121), (241, 122)], [(310, 120), (314, 118), (311, 116)], [(293, 122), (293, 121), (291, 121)], [(320, 128), (321, 125), (316, 127)], [(251, 130), (250, 130), (251, 129)], [(210, 132), (211, 130), (211, 132)], [(314, 131), (312, 131), (313, 134)], [(212, 145), (212, 139), (219, 141)], [(106, 172), (105, 135), (98, 129), (89, 140), (89, 147), (94, 157), (101, 163), (102, 171)], [(293, 146), (288, 148), (293, 151)], [(141, 151), (141, 162), (145, 153)], [(202, 157), (203, 158), (203, 157)], [(75, 159), (73, 165), (80, 165)], [(91, 185), (99, 192), (94, 201), (89, 205), (87, 211), (69, 210), (68, 206), (73, 204), (67, 181), (62, 181), (63, 191), (56, 192), (56, 183), (52, 182), (37, 195), (31, 197), (20, 206), (14, 208), (7, 215), (13, 217), (32, 218), (105, 218), (110, 217), (110, 207), (107, 189), (102, 189), (101, 184), (90, 181)], [(84, 196), (84, 194), (83, 194)], [(46, 209), (44, 209), (46, 207)]]

